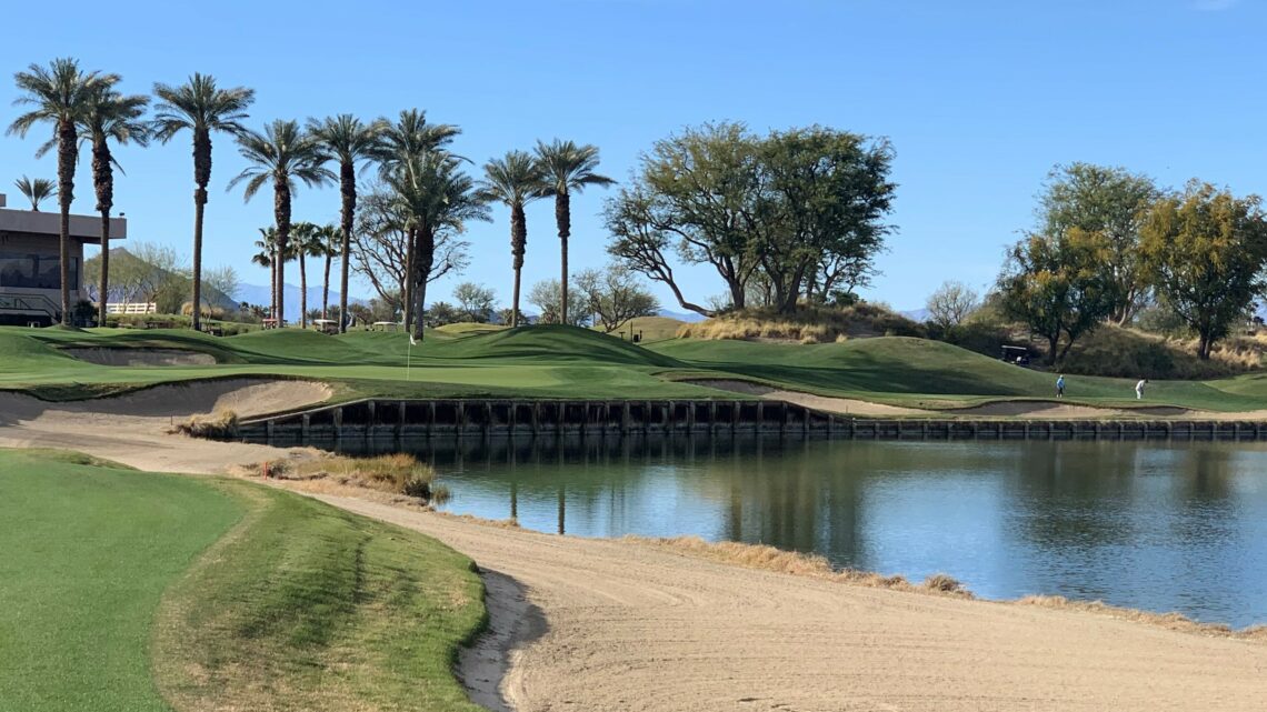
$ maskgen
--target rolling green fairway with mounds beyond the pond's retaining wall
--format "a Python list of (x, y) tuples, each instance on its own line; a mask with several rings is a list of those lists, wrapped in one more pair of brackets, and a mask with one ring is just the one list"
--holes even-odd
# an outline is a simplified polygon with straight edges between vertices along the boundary
[[(664, 336), (664, 334), (660, 334)], [(210, 366), (99, 366), (66, 347), (179, 348), (209, 353)], [(215, 338), (189, 331), (0, 328), (0, 388), (47, 399), (101, 395), (188, 379), (317, 379), (336, 399), (365, 397), (732, 398), (692, 379), (748, 379), (822, 395), (920, 408), (1003, 399), (1048, 399), (1054, 375), (1007, 365), (948, 343), (905, 337), (792, 345), (661, 338), (634, 345), (592, 329), (431, 331), (331, 337), (281, 329)], [(1133, 405), (1134, 379), (1071, 376), (1067, 400)], [(1267, 407), (1267, 376), (1157, 381), (1147, 404), (1209, 410)]]

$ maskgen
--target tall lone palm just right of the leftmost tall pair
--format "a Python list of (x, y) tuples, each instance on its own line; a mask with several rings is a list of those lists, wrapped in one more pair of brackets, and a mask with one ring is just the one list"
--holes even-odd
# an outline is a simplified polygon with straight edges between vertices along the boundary
[(247, 129), (242, 120), (255, 101), (255, 90), (242, 86), (220, 89), (215, 77), (195, 72), (186, 84), (169, 86), (155, 84), (153, 134), (167, 143), (177, 133), (194, 134), (194, 319), (201, 328), (203, 300), (203, 213), (207, 208), (207, 185), (212, 182), (212, 134), (215, 132), (241, 136)]

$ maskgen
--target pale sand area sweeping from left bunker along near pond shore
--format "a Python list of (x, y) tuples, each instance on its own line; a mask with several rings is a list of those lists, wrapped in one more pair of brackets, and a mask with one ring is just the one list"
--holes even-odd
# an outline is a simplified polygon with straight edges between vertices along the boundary
[[(163, 435), (171, 418), (323, 399), (315, 384), (219, 381), (77, 404), (0, 394), (0, 445), (190, 473), (276, 459)], [(337, 507), (471, 556), (492, 631), (459, 673), (492, 709), (1253, 711), (1267, 645), (1100, 614), (870, 589), (630, 541), (481, 524), (336, 495)]]

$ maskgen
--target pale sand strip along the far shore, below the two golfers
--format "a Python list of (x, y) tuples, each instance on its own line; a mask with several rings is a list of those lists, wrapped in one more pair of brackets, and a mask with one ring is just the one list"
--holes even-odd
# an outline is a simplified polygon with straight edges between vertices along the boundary
[(1216, 413), (1211, 410), (1191, 410), (1171, 405), (1144, 405), (1140, 408), (1096, 408), (1093, 405), (1066, 405), (1052, 400), (1000, 400), (971, 408), (922, 409), (886, 405), (853, 398), (832, 398), (797, 390), (777, 388), (740, 380), (691, 380), (694, 385), (716, 388), (730, 393), (742, 393), (769, 400), (784, 400), (826, 413), (841, 413), (869, 418), (888, 416), (945, 418), (946, 416), (971, 418), (1028, 418), (1043, 421), (1098, 421), (1111, 418), (1185, 418), (1206, 421), (1267, 421), (1267, 410), (1248, 410), (1240, 413)]

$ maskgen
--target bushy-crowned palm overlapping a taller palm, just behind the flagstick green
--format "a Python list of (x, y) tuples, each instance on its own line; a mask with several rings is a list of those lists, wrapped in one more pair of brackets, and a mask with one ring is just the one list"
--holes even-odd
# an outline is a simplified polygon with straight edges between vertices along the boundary
[[(459, 170), (462, 158), (433, 151), (398, 165), (384, 177), (397, 209), (405, 215), (412, 239), (417, 242), (412, 258), (407, 257), (412, 270), (407, 274), (405, 288), (412, 286), (413, 336), (418, 340), (423, 338), (422, 313), (427, 281), (435, 267), (437, 236), (446, 231), (462, 232), (466, 220), (489, 219), (488, 204), (475, 190), (475, 181)], [(411, 310), (408, 303), (405, 309)]]

